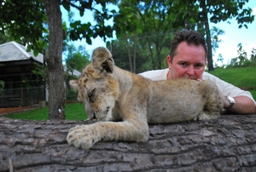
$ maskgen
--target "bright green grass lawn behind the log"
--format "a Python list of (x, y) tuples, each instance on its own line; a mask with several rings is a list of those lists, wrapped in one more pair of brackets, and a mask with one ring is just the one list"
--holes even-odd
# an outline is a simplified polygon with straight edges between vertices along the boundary
[[(232, 83), (237, 87), (251, 87), (250, 89), (254, 100), (256, 100), (256, 68), (245, 67), (245, 68), (233, 68), (233, 69), (215, 69), (210, 72), (212, 75), (223, 79), (228, 83)], [(84, 120), (87, 119), (84, 105), (80, 103), (67, 104), (66, 108), (66, 119), (67, 120)], [(8, 118), (15, 119), (29, 119), (29, 120), (47, 120), (48, 119), (48, 107), (42, 109), (35, 109), (28, 112), (20, 112), (6, 116)]]

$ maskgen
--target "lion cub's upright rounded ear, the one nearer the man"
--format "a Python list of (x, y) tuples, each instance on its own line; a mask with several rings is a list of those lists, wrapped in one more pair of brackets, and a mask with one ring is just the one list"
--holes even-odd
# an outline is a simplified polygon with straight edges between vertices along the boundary
[(113, 72), (113, 59), (110, 51), (104, 47), (96, 48), (91, 55), (91, 64), (95, 69), (105, 72)]

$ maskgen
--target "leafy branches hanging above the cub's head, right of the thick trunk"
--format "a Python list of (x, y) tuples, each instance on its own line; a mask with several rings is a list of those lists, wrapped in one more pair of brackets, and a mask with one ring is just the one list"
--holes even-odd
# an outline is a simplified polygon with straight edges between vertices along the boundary
[[(115, 4), (116, 1), (61, 1), (61, 5), (70, 11), (71, 7), (78, 9), (80, 16), (84, 15), (84, 10), (91, 10), (94, 12), (94, 19), (96, 20), (96, 25), (92, 26), (90, 22), (82, 23), (80, 20), (70, 20), (70, 27), (72, 29), (68, 30), (68, 35), (71, 40), (78, 40), (85, 38), (86, 43), (91, 44), (91, 37), (96, 38), (97, 36), (103, 37), (106, 40), (107, 37), (113, 37), (113, 28), (108, 26), (108, 20), (113, 17), (116, 13), (114, 9), (109, 9), (107, 4)], [(95, 9), (95, 6), (100, 5), (101, 8)], [(99, 7), (99, 6), (98, 6)]]

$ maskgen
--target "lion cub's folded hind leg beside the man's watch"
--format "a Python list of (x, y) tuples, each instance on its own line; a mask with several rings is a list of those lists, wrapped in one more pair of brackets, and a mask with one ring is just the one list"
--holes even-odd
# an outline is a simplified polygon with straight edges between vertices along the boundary
[(210, 80), (200, 83), (200, 93), (202, 101), (205, 103), (204, 108), (199, 114), (198, 119), (214, 119), (219, 117), (219, 113), (223, 108), (223, 99), (218, 91), (218, 87)]

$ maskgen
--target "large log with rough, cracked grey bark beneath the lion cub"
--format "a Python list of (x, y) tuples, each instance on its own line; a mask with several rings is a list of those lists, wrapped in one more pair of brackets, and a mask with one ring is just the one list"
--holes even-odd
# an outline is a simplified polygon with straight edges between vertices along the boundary
[(150, 125), (146, 143), (69, 146), (74, 121), (0, 118), (0, 171), (256, 171), (256, 114)]

